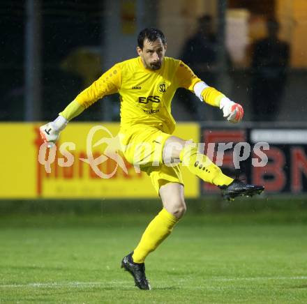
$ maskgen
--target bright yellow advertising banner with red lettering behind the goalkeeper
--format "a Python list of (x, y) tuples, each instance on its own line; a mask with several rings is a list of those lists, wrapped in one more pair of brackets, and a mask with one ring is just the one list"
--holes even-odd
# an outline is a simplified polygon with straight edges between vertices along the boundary
[[(126, 160), (123, 162), (127, 173), (112, 158), (105, 156), (98, 165), (103, 174), (110, 178), (100, 178), (87, 160), (87, 140), (91, 128), (98, 123), (69, 123), (61, 132), (55, 148), (54, 158), (50, 153), (45, 160), (50, 162), (50, 173), (45, 165), (38, 162), (40, 146), (39, 135), (42, 123), (0, 123), (2, 149), (0, 149), (0, 198), (149, 198), (157, 197), (151, 180), (144, 172), (137, 172)], [(115, 137), (119, 123), (99, 123), (101, 128), (91, 138), (91, 155), (97, 159), (103, 155), (103, 144), (95, 144), (103, 137)], [(103, 129), (108, 130), (105, 132)], [(199, 126), (196, 123), (177, 125), (174, 135), (198, 142)], [(69, 159), (73, 160), (68, 164)], [(68, 164), (63, 167), (63, 164)], [(117, 167), (117, 168), (116, 168)], [(186, 197), (198, 197), (200, 187), (197, 177), (182, 168)], [(47, 170), (49, 171), (49, 170)]]

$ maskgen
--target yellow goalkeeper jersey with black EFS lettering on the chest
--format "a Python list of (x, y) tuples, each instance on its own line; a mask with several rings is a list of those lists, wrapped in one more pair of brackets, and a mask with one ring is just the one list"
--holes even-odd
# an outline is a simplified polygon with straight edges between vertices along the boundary
[(76, 100), (87, 108), (103, 96), (119, 93), (121, 130), (143, 124), (172, 134), (176, 124), (171, 114), (174, 93), (179, 87), (193, 91), (200, 81), (180, 60), (165, 57), (159, 70), (149, 70), (137, 57), (115, 64)]

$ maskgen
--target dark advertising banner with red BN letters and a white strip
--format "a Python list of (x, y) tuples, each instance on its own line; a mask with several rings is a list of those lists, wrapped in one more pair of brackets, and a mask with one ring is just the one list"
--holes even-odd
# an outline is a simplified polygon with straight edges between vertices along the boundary
[[(267, 125), (268, 126), (268, 125)], [(307, 129), (304, 128), (218, 128), (203, 126), (202, 139), (204, 153), (210, 154), (211, 159), (228, 175), (234, 176), (234, 146), (248, 144), (248, 153), (243, 157), (243, 150), (237, 155), (241, 160), (241, 178), (248, 183), (264, 185), (265, 194), (306, 195), (307, 192)], [(220, 158), (218, 146), (228, 145)], [(209, 145), (215, 146), (211, 149)], [(261, 149), (255, 149), (256, 146)], [(267, 146), (264, 148), (264, 146)], [(245, 149), (245, 148), (244, 148)], [(238, 151), (238, 150), (237, 150)], [(260, 160), (266, 159), (264, 165)], [(228, 171), (226, 171), (228, 170)], [(209, 183), (201, 181), (202, 195), (219, 194), (220, 190)]]

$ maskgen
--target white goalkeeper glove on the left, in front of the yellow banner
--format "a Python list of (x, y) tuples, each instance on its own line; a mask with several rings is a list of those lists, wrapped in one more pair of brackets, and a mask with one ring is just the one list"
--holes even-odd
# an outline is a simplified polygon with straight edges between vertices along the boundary
[(48, 145), (49, 148), (57, 142), (61, 130), (66, 127), (67, 123), (68, 121), (64, 119), (63, 116), (58, 116), (57, 119), (51, 123), (46, 123), (40, 127), (40, 137), (42, 137), (44, 142), (50, 143), (50, 145)]

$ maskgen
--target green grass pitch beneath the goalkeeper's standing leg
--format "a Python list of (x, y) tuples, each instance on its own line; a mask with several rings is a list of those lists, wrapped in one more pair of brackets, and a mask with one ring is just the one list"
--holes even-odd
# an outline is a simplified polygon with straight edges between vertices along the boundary
[(153, 215), (2, 215), (0, 303), (307, 303), (295, 216), (188, 213), (148, 257), (152, 290), (140, 291), (120, 262)]

